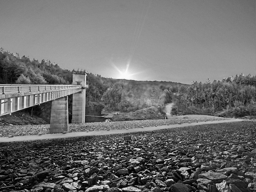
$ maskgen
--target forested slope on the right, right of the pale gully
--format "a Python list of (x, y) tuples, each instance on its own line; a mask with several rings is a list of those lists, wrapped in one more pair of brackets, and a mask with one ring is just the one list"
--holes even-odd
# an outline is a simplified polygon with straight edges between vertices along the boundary
[(212, 83), (209, 79), (204, 84), (191, 83), (192, 86), (174, 92), (173, 114), (222, 111), (224, 116), (256, 116), (256, 76), (241, 74)]

